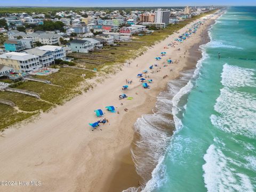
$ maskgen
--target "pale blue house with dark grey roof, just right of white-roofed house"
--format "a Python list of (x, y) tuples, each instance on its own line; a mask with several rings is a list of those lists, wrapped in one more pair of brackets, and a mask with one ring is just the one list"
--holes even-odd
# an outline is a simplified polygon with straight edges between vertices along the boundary
[(78, 53), (88, 53), (89, 51), (93, 50), (93, 46), (90, 41), (78, 39), (74, 39), (73, 41), (68, 43), (67, 47), (69, 47), (72, 52)]

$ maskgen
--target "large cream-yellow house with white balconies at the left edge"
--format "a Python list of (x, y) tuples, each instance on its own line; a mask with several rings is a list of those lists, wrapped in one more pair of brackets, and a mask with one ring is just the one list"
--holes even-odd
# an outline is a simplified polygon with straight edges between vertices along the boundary
[(0, 55), (0, 62), (17, 72), (29, 72), (42, 67), (39, 57), (28, 53), (4, 53)]

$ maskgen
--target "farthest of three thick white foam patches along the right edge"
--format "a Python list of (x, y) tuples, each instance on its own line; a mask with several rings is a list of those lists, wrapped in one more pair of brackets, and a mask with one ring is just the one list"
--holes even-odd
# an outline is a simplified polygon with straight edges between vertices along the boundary
[(243, 67), (231, 66), (227, 63), (223, 65), (221, 83), (229, 87), (256, 87), (255, 70)]

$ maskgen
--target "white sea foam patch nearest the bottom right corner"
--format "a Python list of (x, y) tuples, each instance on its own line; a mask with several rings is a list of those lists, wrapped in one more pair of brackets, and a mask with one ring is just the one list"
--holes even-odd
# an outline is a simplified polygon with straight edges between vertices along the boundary
[(249, 177), (229, 168), (230, 158), (226, 157), (220, 149), (211, 145), (204, 155), (205, 164), (204, 182), (209, 192), (225, 191), (247, 191), (253, 192), (253, 186)]

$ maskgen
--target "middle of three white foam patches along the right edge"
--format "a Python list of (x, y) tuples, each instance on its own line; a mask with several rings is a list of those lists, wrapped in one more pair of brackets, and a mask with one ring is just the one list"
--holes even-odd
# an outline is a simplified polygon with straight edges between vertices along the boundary
[(220, 90), (214, 106), (220, 115), (211, 115), (212, 124), (218, 129), (249, 138), (256, 137), (256, 100), (255, 95), (231, 91), (227, 87)]

